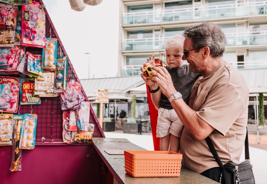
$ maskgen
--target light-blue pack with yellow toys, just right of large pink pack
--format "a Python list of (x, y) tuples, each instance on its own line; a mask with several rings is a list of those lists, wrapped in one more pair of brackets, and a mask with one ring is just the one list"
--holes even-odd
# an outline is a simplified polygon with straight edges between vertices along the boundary
[(47, 70), (55, 70), (56, 53), (58, 52), (58, 39), (46, 38), (45, 48), (42, 54), (42, 68)]

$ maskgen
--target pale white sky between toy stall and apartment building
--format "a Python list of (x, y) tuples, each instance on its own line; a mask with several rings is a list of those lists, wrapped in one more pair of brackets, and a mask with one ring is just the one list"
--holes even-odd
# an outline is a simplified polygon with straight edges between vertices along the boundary
[(86, 5), (80, 12), (68, 0), (43, 3), (79, 79), (116, 77), (120, 0)]

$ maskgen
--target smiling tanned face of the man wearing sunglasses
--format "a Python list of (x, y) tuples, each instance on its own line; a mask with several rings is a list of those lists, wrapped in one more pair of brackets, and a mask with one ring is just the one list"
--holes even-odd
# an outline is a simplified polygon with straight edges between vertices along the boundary
[(200, 57), (202, 52), (197, 53), (195, 48), (191, 47), (191, 42), (192, 40), (189, 38), (186, 38), (184, 40), (184, 45), (183, 45), (184, 55), (182, 59), (187, 60), (191, 72), (201, 73), (204, 67), (203, 65), (204, 62), (202, 61), (202, 57)]

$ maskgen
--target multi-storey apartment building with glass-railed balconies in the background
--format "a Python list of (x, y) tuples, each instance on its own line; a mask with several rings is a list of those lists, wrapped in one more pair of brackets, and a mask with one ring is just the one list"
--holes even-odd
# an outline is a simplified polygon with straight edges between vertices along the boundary
[(267, 67), (267, 1), (120, 0), (118, 76), (140, 75), (151, 55), (165, 60), (165, 41), (203, 21), (224, 31), (224, 60), (239, 70)]

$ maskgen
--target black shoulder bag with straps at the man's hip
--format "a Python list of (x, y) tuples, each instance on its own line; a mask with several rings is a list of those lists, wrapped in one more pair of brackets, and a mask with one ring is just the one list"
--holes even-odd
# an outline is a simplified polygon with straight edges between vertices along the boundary
[(247, 129), (245, 137), (245, 160), (240, 164), (229, 162), (227, 164), (222, 165), (221, 159), (218, 156), (218, 153), (215, 150), (211, 139), (207, 136), (205, 141), (209, 149), (211, 150), (214, 158), (216, 159), (217, 163), (222, 168), (220, 183), (225, 183), (225, 184), (255, 183), (255, 178), (252, 171), (252, 165), (250, 163), (249, 137), (247, 135)]

